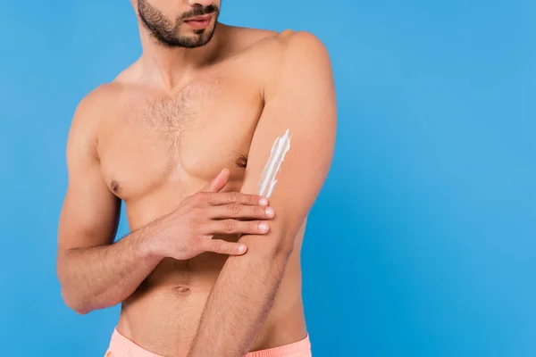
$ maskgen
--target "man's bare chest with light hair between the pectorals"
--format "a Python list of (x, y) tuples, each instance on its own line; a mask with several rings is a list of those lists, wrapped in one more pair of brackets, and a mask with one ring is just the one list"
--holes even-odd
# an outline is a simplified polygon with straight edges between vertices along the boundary
[(165, 187), (197, 189), (224, 167), (240, 179), (262, 109), (254, 88), (222, 76), (174, 95), (133, 92), (99, 133), (103, 176), (125, 201)]

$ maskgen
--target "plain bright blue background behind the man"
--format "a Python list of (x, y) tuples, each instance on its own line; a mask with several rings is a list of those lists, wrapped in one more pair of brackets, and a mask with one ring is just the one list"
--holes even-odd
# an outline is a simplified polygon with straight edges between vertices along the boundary
[[(536, 353), (535, 16), (529, 0), (224, 0), (222, 22), (331, 52), (339, 136), (303, 252), (314, 355)], [(56, 227), (72, 113), (140, 54), (134, 12), (3, 1), (0, 34), (1, 354), (101, 356), (119, 309), (63, 305)]]

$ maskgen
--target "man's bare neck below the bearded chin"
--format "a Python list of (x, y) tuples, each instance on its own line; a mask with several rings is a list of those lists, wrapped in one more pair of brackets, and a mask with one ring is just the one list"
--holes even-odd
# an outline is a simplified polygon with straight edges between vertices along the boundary
[(222, 26), (219, 24), (212, 39), (197, 48), (163, 46), (147, 29), (140, 28), (143, 53), (140, 57), (143, 77), (164, 90), (173, 91), (188, 81), (188, 75), (214, 62), (222, 44)]

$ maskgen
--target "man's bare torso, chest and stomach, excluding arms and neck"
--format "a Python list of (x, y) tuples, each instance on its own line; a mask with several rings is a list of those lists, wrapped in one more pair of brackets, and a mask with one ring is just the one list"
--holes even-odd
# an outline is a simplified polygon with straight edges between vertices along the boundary
[[(125, 202), (132, 230), (172, 212), (224, 167), (231, 172), (224, 190), (240, 190), (263, 112), (264, 83), (277, 75), (279, 38), (226, 30), (237, 38), (231, 45), (236, 50), (198, 70), (172, 94), (137, 83), (130, 69), (99, 89), (106, 102), (96, 134), (101, 171)], [(297, 245), (303, 233), (304, 227)], [(122, 304), (118, 330), (155, 353), (186, 354), (226, 259), (214, 253), (164, 259)], [(305, 336), (299, 265), (297, 246), (253, 350)]]

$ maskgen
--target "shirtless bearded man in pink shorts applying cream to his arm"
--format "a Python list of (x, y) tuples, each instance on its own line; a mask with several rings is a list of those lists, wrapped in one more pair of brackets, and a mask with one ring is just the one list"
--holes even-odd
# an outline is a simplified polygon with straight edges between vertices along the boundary
[[(132, 4), (143, 54), (71, 123), (65, 303), (122, 303), (113, 357), (310, 355), (299, 253), (335, 141), (329, 55), (306, 32), (218, 23), (220, 0)], [(265, 203), (257, 183), (287, 129)], [(121, 201), (131, 233), (113, 243)]]

